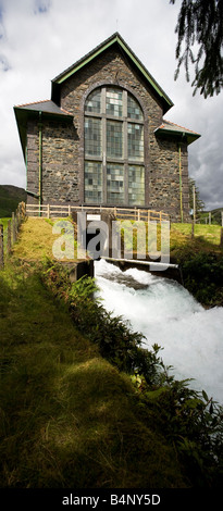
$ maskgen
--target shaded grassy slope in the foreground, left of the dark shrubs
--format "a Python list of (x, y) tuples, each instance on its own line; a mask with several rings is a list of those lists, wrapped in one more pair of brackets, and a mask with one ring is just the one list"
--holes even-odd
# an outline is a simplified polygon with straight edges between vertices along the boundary
[(34, 267), (8, 264), (0, 281), (0, 487), (185, 486), (129, 377), (78, 333)]

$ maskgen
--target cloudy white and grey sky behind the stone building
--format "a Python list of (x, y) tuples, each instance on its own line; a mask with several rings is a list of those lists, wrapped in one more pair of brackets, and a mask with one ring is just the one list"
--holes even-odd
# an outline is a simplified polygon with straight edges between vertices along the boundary
[[(0, 0), (0, 184), (25, 187), (13, 107), (50, 99), (51, 79), (119, 32), (174, 107), (166, 120), (201, 134), (189, 175), (207, 209), (223, 205), (223, 92), (203, 99), (176, 68), (181, 0)], [(193, 72), (191, 72), (193, 77)]]

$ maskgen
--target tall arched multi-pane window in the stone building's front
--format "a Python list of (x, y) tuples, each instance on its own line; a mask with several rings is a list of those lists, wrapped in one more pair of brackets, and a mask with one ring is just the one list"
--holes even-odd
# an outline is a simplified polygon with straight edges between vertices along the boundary
[(85, 102), (85, 202), (145, 204), (144, 115), (117, 87), (97, 88)]

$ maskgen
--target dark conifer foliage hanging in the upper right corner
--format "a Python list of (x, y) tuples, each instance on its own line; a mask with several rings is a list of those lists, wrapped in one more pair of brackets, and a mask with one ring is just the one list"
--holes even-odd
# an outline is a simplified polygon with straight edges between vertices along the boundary
[(194, 95), (197, 90), (205, 98), (220, 94), (223, 86), (223, 0), (182, 0), (175, 32), (178, 36), (175, 79), (184, 64), (189, 82), (189, 64), (193, 64)]

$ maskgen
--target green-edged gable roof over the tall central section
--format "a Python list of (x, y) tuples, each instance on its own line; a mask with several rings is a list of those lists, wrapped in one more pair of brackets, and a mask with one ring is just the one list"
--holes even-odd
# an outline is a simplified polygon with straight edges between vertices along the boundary
[(124, 41), (124, 39), (117, 32), (52, 79), (52, 100), (55, 100), (55, 98), (58, 97), (57, 89), (58, 87), (60, 87), (61, 84), (63, 84), (66, 79), (77, 73), (85, 65), (89, 64), (89, 62), (91, 62), (94, 59), (99, 57), (112, 46), (117, 46), (122, 53), (124, 52), (125, 57), (127, 57), (127, 59), (131, 61), (132, 65), (134, 65), (134, 67), (143, 75), (144, 79), (146, 79), (146, 82), (152, 88), (154, 95), (158, 96), (161, 100), (163, 104), (163, 112), (165, 113), (168, 110), (170, 110), (170, 108), (173, 107), (174, 103), (164, 92), (164, 90), (160, 87), (153, 76), (148, 72), (145, 65), (140, 62), (140, 60), (135, 55), (133, 50), (127, 46), (127, 43)]

